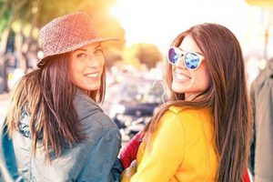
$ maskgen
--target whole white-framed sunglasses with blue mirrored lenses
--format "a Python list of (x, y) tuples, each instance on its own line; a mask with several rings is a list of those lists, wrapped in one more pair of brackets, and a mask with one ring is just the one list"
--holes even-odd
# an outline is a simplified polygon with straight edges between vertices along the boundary
[(196, 70), (205, 58), (204, 56), (198, 53), (183, 51), (176, 46), (169, 47), (168, 53), (167, 53), (167, 60), (169, 64), (176, 65), (177, 61), (182, 56), (184, 56), (185, 66), (187, 67), (188, 70), (191, 70), (191, 71)]

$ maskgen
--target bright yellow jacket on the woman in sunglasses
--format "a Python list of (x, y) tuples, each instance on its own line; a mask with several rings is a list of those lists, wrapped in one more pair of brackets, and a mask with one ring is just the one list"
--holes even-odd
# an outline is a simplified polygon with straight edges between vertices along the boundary
[(149, 151), (138, 150), (133, 182), (214, 181), (217, 152), (211, 108), (170, 106), (161, 117)]

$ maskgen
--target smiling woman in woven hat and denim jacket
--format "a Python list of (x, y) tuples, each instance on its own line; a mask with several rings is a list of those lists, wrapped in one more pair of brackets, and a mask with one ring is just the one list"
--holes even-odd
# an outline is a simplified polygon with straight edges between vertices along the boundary
[(81, 12), (41, 29), (45, 56), (18, 83), (1, 138), (15, 181), (120, 180), (121, 136), (99, 106), (106, 88), (101, 43), (112, 39), (98, 36)]

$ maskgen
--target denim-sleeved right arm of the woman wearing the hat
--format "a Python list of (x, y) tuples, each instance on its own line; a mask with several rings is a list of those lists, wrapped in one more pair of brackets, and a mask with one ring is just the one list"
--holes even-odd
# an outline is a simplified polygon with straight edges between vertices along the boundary
[(97, 139), (90, 150), (86, 165), (78, 181), (117, 182), (123, 170), (117, 158), (120, 149), (120, 133), (112, 128)]

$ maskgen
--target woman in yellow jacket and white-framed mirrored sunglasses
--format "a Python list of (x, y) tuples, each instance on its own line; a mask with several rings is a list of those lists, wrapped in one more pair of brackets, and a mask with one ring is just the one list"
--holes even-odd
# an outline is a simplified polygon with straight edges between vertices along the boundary
[(236, 36), (195, 25), (177, 35), (167, 60), (171, 99), (143, 131), (122, 181), (242, 181), (252, 115)]

